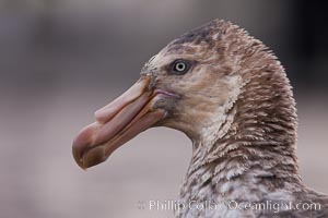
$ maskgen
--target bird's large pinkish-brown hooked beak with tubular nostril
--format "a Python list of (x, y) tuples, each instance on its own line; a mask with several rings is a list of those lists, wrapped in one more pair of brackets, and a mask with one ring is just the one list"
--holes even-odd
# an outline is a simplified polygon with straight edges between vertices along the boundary
[(105, 161), (119, 146), (165, 118), (166, 110), (155, 108), (155, 102), (178, 96), (150, 84), (151, 76), (142, 76), (120, 97), (97, 110), (96, 121), (81, 130), (72, 152), (82, 169)]

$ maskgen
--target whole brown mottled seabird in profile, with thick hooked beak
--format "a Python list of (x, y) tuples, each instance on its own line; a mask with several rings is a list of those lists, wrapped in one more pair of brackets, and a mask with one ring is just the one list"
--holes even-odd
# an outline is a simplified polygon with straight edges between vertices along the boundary
[[(186, 207), (176, 217), (328, 217), (328, 197), (300, 179), (297, 117), (284, 70), (236, 25), (214, 20), (173, 40), (130, 90), (95, 116), (73, 143), (82, 168), (151, 126), (192, 141), (178, 199)], [(195, 209), (190, 202), (215, 207)], [(232, 202), (253, 207), (232, 208)], [(254, 208), (260, 204), (274, 208)]]

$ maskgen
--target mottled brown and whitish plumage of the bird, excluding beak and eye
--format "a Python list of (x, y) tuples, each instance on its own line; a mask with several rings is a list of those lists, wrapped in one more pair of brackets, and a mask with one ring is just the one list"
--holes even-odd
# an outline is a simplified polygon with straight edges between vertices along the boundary
[(214, 20), (173, 40), (142, 72), (156, 74), (176, 58), (198, 63), (192, 73), (166, 85), (185, 96), (163, 125), (183, 131), (194, 143), (179, 203), (320, 204), (319, 210), (280, 211), (222, 205), (178, 210), (176, 217), (328, 217), (327, 196), (300, 178), (295, 101), (277, 57), (238, 26)]

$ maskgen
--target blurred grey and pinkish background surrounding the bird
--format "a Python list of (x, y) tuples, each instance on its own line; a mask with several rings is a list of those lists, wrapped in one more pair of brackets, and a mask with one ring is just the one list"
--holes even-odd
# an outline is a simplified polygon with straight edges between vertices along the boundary
[(306, 184), (328, 193), (327, 7), (316, 1), (0, 0), (0, 217), (173, 217), (191, 156), (180, 133), (149, 130), (82, 171), (71, 143), (169, 40), (232, 21), (282, 61), (300, 116)]

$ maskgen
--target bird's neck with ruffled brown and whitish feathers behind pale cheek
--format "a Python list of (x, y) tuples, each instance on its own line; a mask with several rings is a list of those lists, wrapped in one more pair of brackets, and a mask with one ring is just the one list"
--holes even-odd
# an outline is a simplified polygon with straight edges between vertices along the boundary
[(194, 138), (192, 159), (180, 189), (184, 204), (254, 202), (277, 190), (302, 186), (294, 100), (284, 74), (271, 80), (270, 86), (250, 81), (225, 116), (214, 142)]

